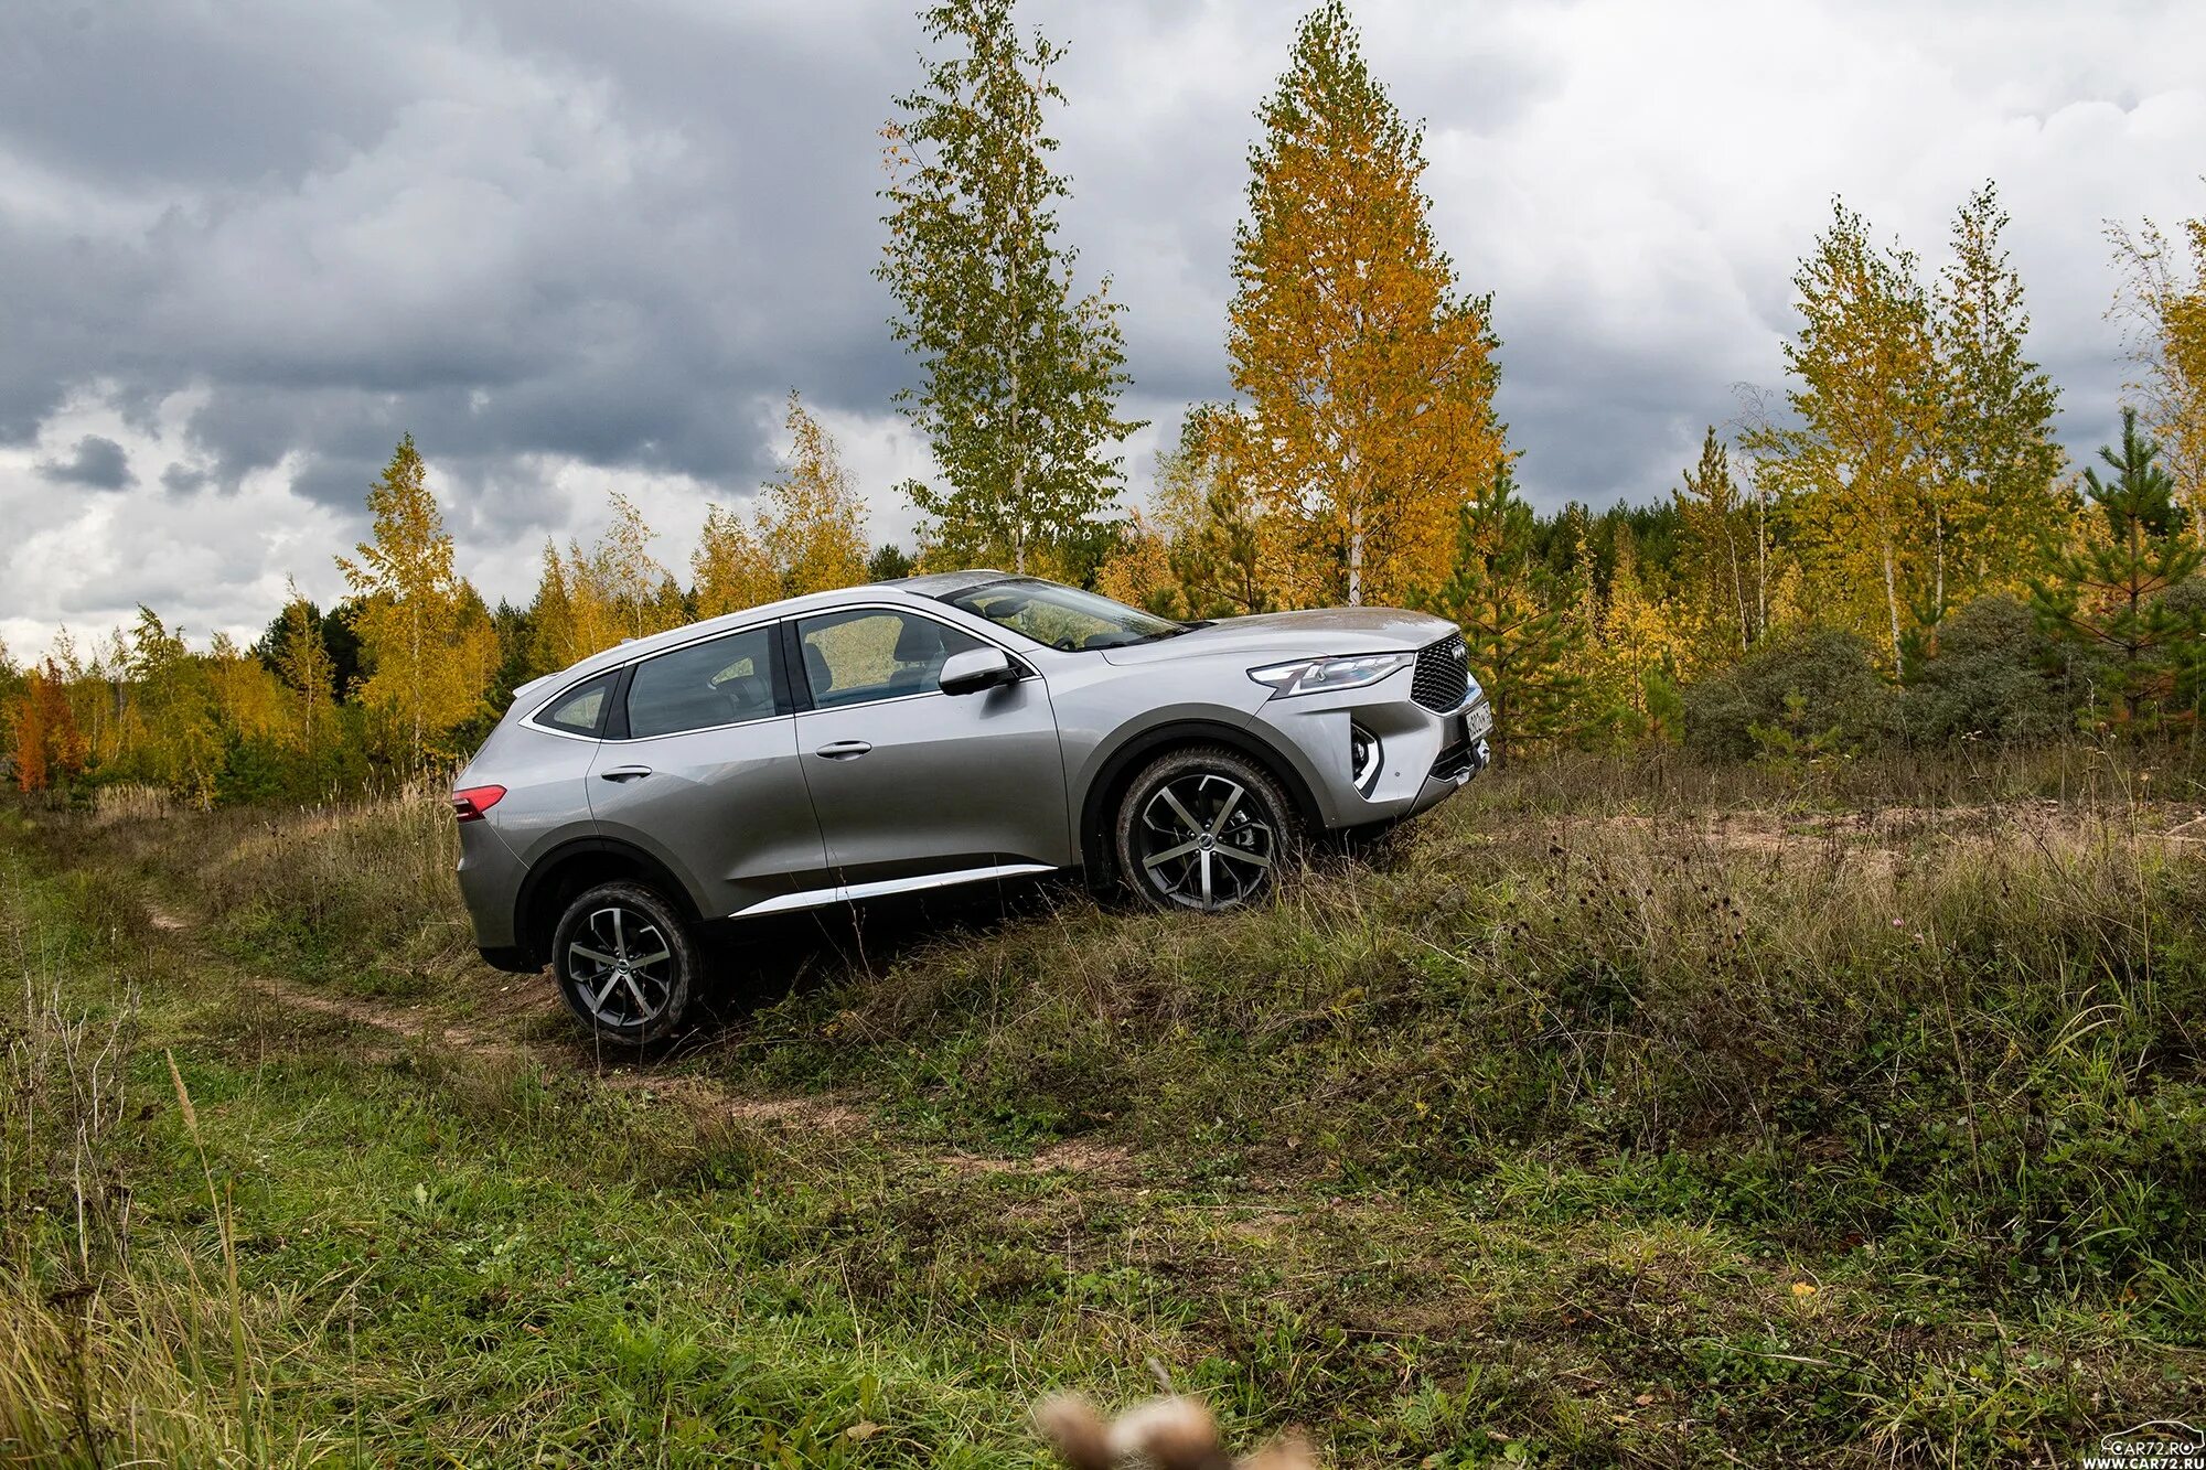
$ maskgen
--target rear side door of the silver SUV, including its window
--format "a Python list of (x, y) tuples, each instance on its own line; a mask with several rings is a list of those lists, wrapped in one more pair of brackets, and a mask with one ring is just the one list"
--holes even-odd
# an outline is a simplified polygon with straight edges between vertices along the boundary
[(706, 918), (827, 885), (774, 627), (635, 664), (589, 773), (598, 830), (666, 863)]

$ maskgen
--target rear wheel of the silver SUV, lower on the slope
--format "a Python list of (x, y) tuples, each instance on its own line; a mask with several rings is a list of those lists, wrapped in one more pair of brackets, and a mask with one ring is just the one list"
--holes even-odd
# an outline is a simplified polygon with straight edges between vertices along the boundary
[(600, 883), (552, 931), (558, 991), (600, 1040), (649, 1046), (682, 1029), (704, 947), (682, 909), (642, 883)]

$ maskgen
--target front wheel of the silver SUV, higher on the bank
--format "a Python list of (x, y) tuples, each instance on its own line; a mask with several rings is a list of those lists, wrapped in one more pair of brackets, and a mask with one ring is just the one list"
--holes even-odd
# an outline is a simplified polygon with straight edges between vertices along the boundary
[(1114, 823), (1125, 885), (1149, 907), (1198, 914), (1271, 894), (1299, 841), (1279, 784), (1227, 746), (1171, 750), (1143, 766)]

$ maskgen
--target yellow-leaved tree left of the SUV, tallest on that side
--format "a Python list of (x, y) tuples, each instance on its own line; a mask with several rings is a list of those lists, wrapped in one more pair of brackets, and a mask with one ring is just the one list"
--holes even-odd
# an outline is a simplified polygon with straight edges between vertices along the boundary
[(373, 541), (338, 569), (364, 598), (357, 618), (368, 675), (360, 697), (397, 728), (408, 770), (421, 770), (435, 739), (474, 715), (483, 700), (481, 660), (488, 620), (463, 616), (463, 583), (452, 572), (452, 536), (428, 488), (428, 466), (406, 435), (368, 488)]

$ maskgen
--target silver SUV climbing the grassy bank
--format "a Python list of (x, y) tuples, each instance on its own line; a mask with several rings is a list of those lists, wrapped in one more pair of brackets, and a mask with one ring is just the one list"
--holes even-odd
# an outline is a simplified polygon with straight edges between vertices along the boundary
[(1231, 909), (1299, 837), (1456, 792), (1489, 728), (1441, 618), (1171, 622), (1032, 576), (913, 576), (518, 689), (452, 792), (459, 887), (485, 960), (549, 962), (576, 1015), (651, 1042), (708, 923), (1054, 867)]

